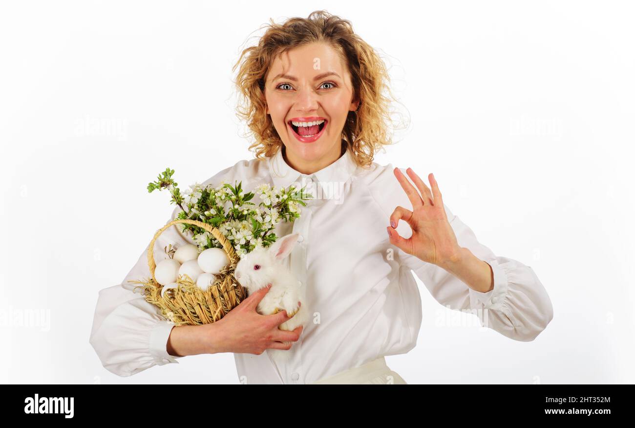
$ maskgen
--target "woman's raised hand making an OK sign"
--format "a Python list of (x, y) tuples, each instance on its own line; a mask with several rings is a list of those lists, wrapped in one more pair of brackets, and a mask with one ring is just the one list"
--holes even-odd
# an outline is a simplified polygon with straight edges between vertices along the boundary
[[(421, 192), (419, 194), (417, 189), (401, 173), (401, 170), (395, 168), (393, 172), (408, 195), (413, 211), (399, 206), (392, 212), (392, 227), (387, 226), (391, 244), (434, 265), (443, 267), (448, 263), (458, 261), (461, 256), (461, 247), (459, 247), (457, 237), (448, 222), (441, 191), (434, 176), (432, 174), (428, 176), (432, 187), (431, 191), (412, 169), (406, 170), (408, 176)], [(399, 236), (395, 230), (399, 224), (399, 219), (410, 224), (412, 229), (410, 238), (405, 239)]]

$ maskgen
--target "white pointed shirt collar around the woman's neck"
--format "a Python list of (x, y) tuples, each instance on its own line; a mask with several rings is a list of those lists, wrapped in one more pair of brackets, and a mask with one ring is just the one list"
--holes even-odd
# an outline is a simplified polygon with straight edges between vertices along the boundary
[(278, 149), (276, 155), (269, 158), (269, 173), (276, 187), (288, 188), (292, 183), (300, 183), (302, 179), (309, 177), (321, 184), (330, 183), (331, 186), (336, 183), (344, 184), (356, 169), (357, 163), (353, 159), (349, 148), (338, 160), (313, 174), (302, 174), (291, 168), (284, 160), (282, 148)]

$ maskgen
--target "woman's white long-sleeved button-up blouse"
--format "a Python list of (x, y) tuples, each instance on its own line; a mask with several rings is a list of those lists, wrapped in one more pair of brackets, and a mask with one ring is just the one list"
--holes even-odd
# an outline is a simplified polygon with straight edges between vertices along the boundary
[[(472, 290), (443, 268), (406, 254), (389, 242), (386, 226), (394, 209), (412, 209), (393, 173), (394, 167), (373, 162), (358, 167), (347, 151), (328, 167), (307, 176), (292, 169), (279, 150), (267, 160), (241, 160), (203, 184), (243, 182), (244, 192), (272, 186), (309, 186), (314, 199), (301, 207), (300, 218), (276, 226), (277, 236), (300, 233), (287, 259), (306, 289), (303, 302), (312, 314), (293, 347), (289, 361), (278, 366), (268, 352), (234, 354), (242, 383), (311, 383), (381, 356), (404, 354), (417, 344), (422, 322), (421, 296), (413, 271), (441, 305), (479, 316), (481, 324), (514, 340), (530, 341), (553, 317), (551, 300), (533, 270), (514, 259), (496, 256), (478, 242), (458, 216), (448, 215), (458, 245), (490, 264), (494, 288)], [(405, 169), (401, 169), (407, 176)], [(180, 208), (173, 211), (175, 219)], [(157, 225), (158, 226), (158, 225)], [(158, 228), (158, 227), (157, 227)], [(399, 234), (410, 226), (399, 221)], [(158, 263), (163, 248), (193, 243), (173, 226), (157, 240)], [(99, 293), (90, 343), (104, 367), (130, 376), (155, 365), (178, 362), (166, 351), (173, 324), (131, 290), (129, 279), (150, 277), (147, 250), (121, 284)]]

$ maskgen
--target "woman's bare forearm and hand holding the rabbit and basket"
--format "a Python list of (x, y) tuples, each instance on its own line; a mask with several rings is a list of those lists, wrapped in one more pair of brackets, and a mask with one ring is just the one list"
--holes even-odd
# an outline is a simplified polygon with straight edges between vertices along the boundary
[(168, 354), (186, 356), (237, 352), (260, 355), (268, 348), (290, 349), (293, 345), (291, 342), (300, 338), (302, 326), (293, 331), (278, 329), (280, 324), (291, 319), (286, 310), (273, 315), (260, 315), (256, 312), (258, 303), (269, 289), (271, 284), (251, 293), (216, 322), (173, 328), (168, 338)]

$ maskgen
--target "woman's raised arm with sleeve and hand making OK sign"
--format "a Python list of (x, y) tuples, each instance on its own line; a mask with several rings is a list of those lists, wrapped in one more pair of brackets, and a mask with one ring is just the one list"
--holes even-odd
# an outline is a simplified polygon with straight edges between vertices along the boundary
[(403, 170), (393, 172), (403, 191), (396, 197), (401, 205), (392, 212), (387, 230), (403, 264), (442, 305), (476, 312), (484, 326), (514, 340), (533, 340), (553, 318), (551, 300), (535, 272), (478, 242), (443, 203), (432, 174), (428, 188), (414, 171), (406, 170), (415, 188)]

